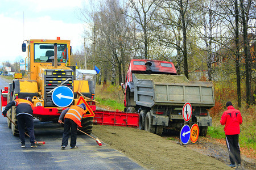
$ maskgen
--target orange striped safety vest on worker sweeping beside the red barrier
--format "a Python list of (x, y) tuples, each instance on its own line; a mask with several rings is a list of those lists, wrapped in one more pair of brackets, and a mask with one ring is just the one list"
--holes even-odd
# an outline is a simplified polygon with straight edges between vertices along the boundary
[(78, 107), (77, 105), (72, 105), (68, 112), (65, 114), (64, 118), (70, 118), (71, 120), (73, 120), (79, 127), (81, 126), (81, 120), (82, 120), (82, 116), (84, 116), (86, 112), (84, 111), (84, 109)]

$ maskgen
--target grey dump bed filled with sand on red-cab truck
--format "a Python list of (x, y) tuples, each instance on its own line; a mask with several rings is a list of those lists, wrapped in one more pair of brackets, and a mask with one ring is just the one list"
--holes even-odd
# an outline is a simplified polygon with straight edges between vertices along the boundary
[(133, 74), (134, 100), (137, 105), (213, 107), (212, 82), (190, 82), (181, 75)]

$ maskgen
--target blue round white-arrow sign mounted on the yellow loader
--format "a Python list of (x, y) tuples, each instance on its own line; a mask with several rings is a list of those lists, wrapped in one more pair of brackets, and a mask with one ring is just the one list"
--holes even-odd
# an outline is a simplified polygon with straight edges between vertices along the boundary
[(56, 87), (52, 92), (52, 101), (57, 107), (67, 107), (73, 102), (73, 91), (67, 86)]

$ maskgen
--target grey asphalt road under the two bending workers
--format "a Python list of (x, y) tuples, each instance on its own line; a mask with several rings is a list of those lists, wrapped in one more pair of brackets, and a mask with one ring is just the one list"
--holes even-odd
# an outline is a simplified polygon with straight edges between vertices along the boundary
[[(0, 89), (4, 86), (8, 83), (0, 76)], [(26, 147), (22, 148), (6, 119), (0, 114), (0, 169), (143, 169), (102, 141), (102, 146), (98, 146), (85, 134), (77, 135), (79, 148), (61, 150), (63, 127), (51, 122), (35, 120), (35, 139), (45, 141), (45, 145), (30, 148), (26, 138)]]

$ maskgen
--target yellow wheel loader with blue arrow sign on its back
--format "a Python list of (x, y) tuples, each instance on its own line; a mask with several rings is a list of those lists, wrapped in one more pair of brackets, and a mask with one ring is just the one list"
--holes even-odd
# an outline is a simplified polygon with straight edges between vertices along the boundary
[[(93, 126), (93, 111), (96, 110), (94, 100), (96, 76), (92, 71), (88, 76), (79, 71), (76, 79), (76, 66), (71, 66), (72, 46), (69, 40), (33, 39), (25, 40), (22, 51), (25, 58), (26, 74), (14, 79), (9, 87), (1, 91), (1, 108), (11, 100), (24, 99), (29, 96), (34, 104), (34, 118), (40, 121), (57, 122), (60, 113), (70, 105), (86, 103), (89, 112), (82, 118), (81, 130), (90, 134)], [(86, 79), (89, 78), (89, 79)], [(7, 112), (7, 116), (17, 124), (16, 107)], [(19, 131), (7, 119), (14, 135)]]

